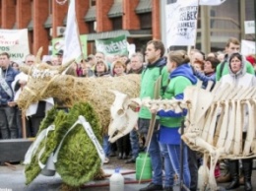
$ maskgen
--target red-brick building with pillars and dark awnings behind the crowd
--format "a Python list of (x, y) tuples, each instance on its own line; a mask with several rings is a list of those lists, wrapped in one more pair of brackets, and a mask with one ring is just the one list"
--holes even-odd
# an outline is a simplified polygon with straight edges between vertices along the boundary
[[(60, 1), (60, 0), (59, 0)], [(30, 49), (35, 53), (43, 46), (47, 54), (52, 37), (61, 35), (66, 26), (68, 3), (56, 0), (0, 0), (1, 29), (29, 30)], [(76, 0), (81, 34), (88, 35), (88, 51), (93, 53), (94, 40), (126, 34), (137, 45), (160, 38), (159, 0)]]

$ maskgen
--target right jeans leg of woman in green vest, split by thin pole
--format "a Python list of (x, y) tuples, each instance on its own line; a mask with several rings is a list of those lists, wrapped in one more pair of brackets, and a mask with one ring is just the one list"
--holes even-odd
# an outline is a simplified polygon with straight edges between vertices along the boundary
[[(180, 174), (180, 145), (167, 145), (169, 158), (172, 163), (173, 169), (177, 175)], [(188, 153), (187, 146), (183, 147), (183, 182), (186, 187), (190, 188), (190, 172), (188, 167)]]

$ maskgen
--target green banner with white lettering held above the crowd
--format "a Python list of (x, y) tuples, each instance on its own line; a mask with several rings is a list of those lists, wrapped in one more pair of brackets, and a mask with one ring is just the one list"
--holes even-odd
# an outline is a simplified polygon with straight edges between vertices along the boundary
[(111, 39), (96, 40), (96, 51), (103, 52), (105, 55), (120, 54), (128, 55), (128, 45), (125, 35), (120, 35)]

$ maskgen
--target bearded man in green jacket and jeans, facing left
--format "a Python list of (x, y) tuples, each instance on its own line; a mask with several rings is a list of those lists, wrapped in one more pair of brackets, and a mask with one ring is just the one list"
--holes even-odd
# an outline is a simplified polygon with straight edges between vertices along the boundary
[[(166, 70), (166, 58), (163, 57), (164, 46), (160, 40), (151, 40), (147, 43), (146, 61), (147, 67), (142, 72), (141, 93), (140, 98), (154, 98), (154, 85), (161, 76), (161, 87), (167, 86), (168, 72)], [(163, 95), (163, 90), (160, 91), (160, 96)], [(144, 137), (147, 137), (152, 113), (147, 107), (142, 107), (139, 112), (138, 127), (139, 132)], [(140, 189), (140, 191), (162, 190), (162, 163), (159, 143), (159, 121), (156, 121), (155, 131), (153, 133), (149, 147), (149, 153), (152, 160), (154, 171), (153, 179), (150, 185)]]

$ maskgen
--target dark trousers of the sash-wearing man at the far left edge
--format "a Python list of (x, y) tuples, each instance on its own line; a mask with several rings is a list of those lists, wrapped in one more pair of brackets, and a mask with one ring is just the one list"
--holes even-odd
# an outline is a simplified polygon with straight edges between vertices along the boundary
[(0, 130), (2, 139), (17, 139), (15, 107), (0, 106)]

